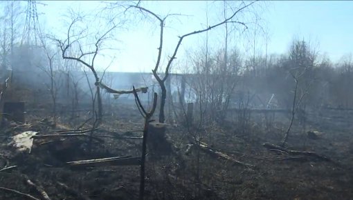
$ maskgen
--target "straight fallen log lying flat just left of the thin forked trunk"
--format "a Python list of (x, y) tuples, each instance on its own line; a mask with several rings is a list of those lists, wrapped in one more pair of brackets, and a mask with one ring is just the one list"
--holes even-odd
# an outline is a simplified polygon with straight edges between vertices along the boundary
[(101, 166), (139, 166), (141, 157), (109, 157), (103, 159), (90, 159), (81, 161), (69, 161), (66, 162), (73, 167), (81, 168), (96, 168)]

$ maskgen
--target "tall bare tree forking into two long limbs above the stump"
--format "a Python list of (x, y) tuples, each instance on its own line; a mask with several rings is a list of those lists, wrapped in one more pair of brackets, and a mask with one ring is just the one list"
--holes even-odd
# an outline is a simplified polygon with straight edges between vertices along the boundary
[[(172, 56), (169, 57), (167, 66), (165, 66), (165, 70), (163, 73), (163, 76), (159, 74), (159, 69), (161, 68), (161, 55), (163, 52), (163, 37), (164, 37), (164, 28), (165, 28), (165, 23), (168, 19), (168, 17), (175, 16), (175, 15), (180, 15), (180, 14), (167, 14), (165, 17), (161, 17), (159, 14), (156, 14), (152, 10), (148, 10), (147, 8), (144, 8), (143, 6), (140, 5), (140, 1), (134, 5), (129, 5), (126, 6), (126, 10), (129, 10), (130, 8), (135, 8), (138, 9), (141, 13), (146, 13), (149, 14), (150, 16), (154, 17), (156, 20), (159, 21), (159, 28), (160, 28), (160, 33), (159, 33), (159, 48), (158, 48), (158, 56), (156, 60), (156, 65), (154, 66), (154, 69), (152, 70), (152, 73), (156, 80), (159, 83), (159, 86), (161, 88), (161, 103), (159, 106), (159, 122), (164, 123), (165, 121), (165, 112), (164, 112), (164, 107), (165, 107), (165, 99), (167, 97), (167, 90), (165, 87), (165, 81), (168, 79), (168, 76), (170, 74), (170, 68), (172, 66), (172, 63), (174, 59), (177, 59), (177, 52), (179, 50), (179, 47), (181, 46), (181, 43), (183, 42), (183, 39), (186, 37), (192, 36), (194, 34), (200, 34), (202, 32), (208, 32), (209, 30), (212, 30), (214, 28), (217, 28), (221, 25), (224, 25), (226, 23), (238, 23), (241, 24), (246, 28), (246, 24), (242, 21), (237, 21), (237, 14), (239, 12), (242, 12), (242, 10), (248, 8), (249, 6), (253, 5), (255, 1), (249, 1), (249, 2), (243, 2), (242, 6), (238, 8), (237, 10), (233, 10), (233, 13), (230, 14), (229, 17), (226, 17), (224, 20), (220, 21), (219, 23), (215, 23), (211, 26), (208, 26), (207, 28), (201, 29), (201, 30), (195, 30), (193, 32), (189, 32), (187, 34), (183, 34), (179, 37), (179, 41), (177, 43), (177, 46), (174, 48), (174, 52), (172, 53)], [(119, 5), (121, 6), (121, 5)]]

